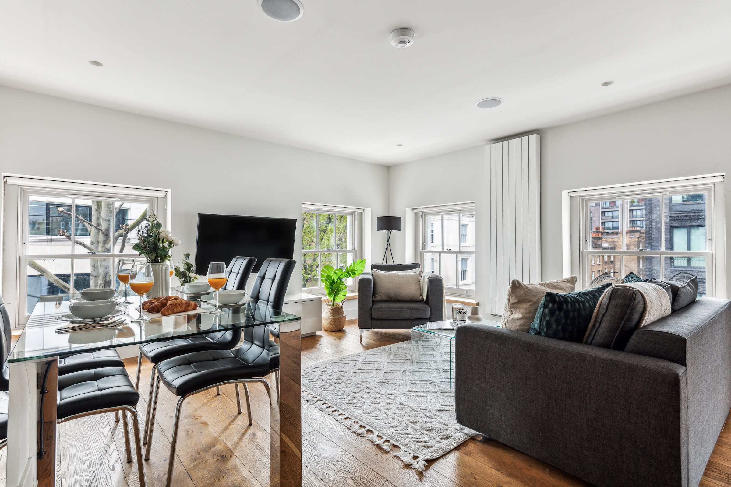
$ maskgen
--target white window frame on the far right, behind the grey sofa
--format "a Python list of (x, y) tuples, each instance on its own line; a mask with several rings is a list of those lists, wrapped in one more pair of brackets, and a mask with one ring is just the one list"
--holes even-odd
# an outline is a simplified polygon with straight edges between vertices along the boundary
[[(651, 196), (672, 196), (674, 194), (706, 193), (705, 205), (705, 251), (675, 250), (612, 250), (616, 256), (659, 256), (660, 276), (664, 276), (664, 257), (704, 257), (706, 269), (706, 296), (726, 295), (725, 222), (724, 222), (724, 176), (708, 175), (672, 180), (652, 181), (629, 185), (613, 185), (604, 188), (564, 191), (564, 274), (579, 276), (578, 288), (589, 282), (589, 256), (605, 255), (607, 250), (591, 250), (591, 211), (589, 204), (607, 200), (632, 199)], [(629, 208), (623, 208), (629, 218)], [(660, 218), (664, 218), (664, 204), (660, 205)], [(647, 215), (645, 214), (645, 217)], [(664, 220), (661, 220), (664, 221)], [(665, 225), (661, 225), (660, 241), (664, 245)], [(622, 248), (624, 249), (624, 233)], [(625, 275), (624, 259), (620, 265)]]

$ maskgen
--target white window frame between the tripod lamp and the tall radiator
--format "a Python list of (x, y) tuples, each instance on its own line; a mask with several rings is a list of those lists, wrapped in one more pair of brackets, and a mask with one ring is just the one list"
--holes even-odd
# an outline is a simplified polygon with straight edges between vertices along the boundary
[[(455, 254), (455, 280), (457, 281), (457, 287), (452, 286), (444, 286), (444, 292), (447, 295), (450, 296), (471, 296), (474, 297), (474, 289), (469, 288), (460, 288), (459, 287), (459, 281), (461, 280), (461, 258), (459, 258), (460, 255), (463, 254), (470, 254), (472, 256), (472, 259), (474, 260), (474, 272), (475, 275), (474, 280), (477, 279), (477, 259), (479, 258), (479, 252), (477, 251), (477, 218), (475, 218), (474, 225), (475, 225), (475, 245), (474, 250), (462, 250), (462, 242), (461, 242), (461, 224), (462, 224), (462, 217), (461, 214), (463, 212), (475, 212), (475, 205), (474, 202), (469, 202), (465, 204), (445, 204), (442, 206), (433, 206), (433, 207), (425, 207), (423, 209), (417, 209), (416, 210), (418, 215), (416, 218), (417, 221), (417, 248), (416, 248), (416, 255), (419, 257), (420, 264), (423, 264), (424, 262), (424, 254), (426, 253), (438, 253), (439, 254), (439, 271), (435, 269), (436, 274), (441, 274), (441, 268), (442, 268), (442, 262), (443, 259), (441, 258), (441, 255), (443, 253), (452, 253)], [(426, 224), (426, 217), (429, 215), (444, 215), (444, 214), (454, 214), (454, 213), (460, 213), (460, 220), (457, 225), (458, 234), (457, 234), (457, 242), (459, 245), (458, 250), (430, 250), (427, 248), (428, 242), (431, 241), (432, 231), (431, 226), (427, 227)], [(441, 242), (444, 242), (444, 225), (442, 225), (442, 239)]]

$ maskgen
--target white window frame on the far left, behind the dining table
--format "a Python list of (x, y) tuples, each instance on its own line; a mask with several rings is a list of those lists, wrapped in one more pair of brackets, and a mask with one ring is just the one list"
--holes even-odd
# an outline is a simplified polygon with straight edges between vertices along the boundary
[[(3, 242), (7, 238), (15, 238), (14, 255), (3, 255), (3, 269), (6, 269), (6, 260), (12, 259), (15, 264), (15, 279), (11, 282), (4, 280), (4, 285), (12, 285), (15, 288), (15, 328), (25, 325), (30, 318), (28, 312), (28, 272), (27, 262), (35, 259), (70, 259), (71, 260), (71, 282), (74, 277), (74, 263), (80, 259), (91, 258), (139, 258), (139, 254), (132, 250), (132, 245), (125, 248), (124, 253), (54, 253), (54, 254), (30, 254), (30, 229), (29, 229), (29, 196), (50, 196), (64, 199), (119, 199), (124, 202), (137, 202), (149, 204), (150, 211), (156, 212), (163, 228), (170, 228), (170, 209), (167, 199), (170, 192), (155, 188), (137, 188), (132, 186), (106, 185), (104, 183), (81, 183), (69, 180), (53, 180), (48, 178), (23, 177), (15, 175), (4, 175), (4, 184), (13, 184), (18, 188), (17, 212), (12, 215), (4, 215), (2, 229)], [(74, 210), (72, 210), (74, 212)], [(73, 240), (70, 244), (74, 245)]]

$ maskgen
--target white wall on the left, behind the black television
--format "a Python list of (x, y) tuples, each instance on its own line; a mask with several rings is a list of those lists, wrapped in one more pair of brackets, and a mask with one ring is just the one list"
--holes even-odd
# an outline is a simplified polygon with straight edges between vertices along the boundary
[[(303, 202), (374, 215), (388, 202), (385, 166), (2, 86), (0, 172), (172, 189), (176, 260), (195, 252), (199, 212), (301, 221)], [(375, 225), (364, 247), (377, 250), (385, 237)], [(301, 275), (298, 264), (290, 293), (301, 292)]]

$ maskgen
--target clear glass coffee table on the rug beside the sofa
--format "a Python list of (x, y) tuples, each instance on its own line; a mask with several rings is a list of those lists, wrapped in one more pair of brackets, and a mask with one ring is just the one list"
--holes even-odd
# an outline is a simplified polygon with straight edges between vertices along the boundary
[[(482, 320), (477, 324), (500, 327), (500, 322), (493, 320)], [(414, 326), (411, 340), (412, 375), (431, 380), (443, 388), (454, 388), (456, 334), (456, 330), (429, 330), (426, 325)]]

